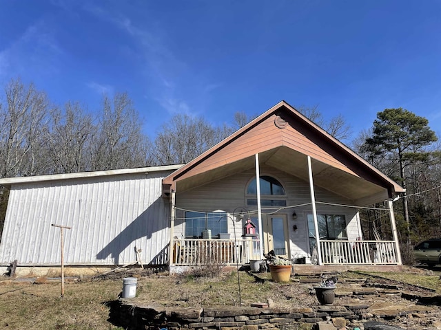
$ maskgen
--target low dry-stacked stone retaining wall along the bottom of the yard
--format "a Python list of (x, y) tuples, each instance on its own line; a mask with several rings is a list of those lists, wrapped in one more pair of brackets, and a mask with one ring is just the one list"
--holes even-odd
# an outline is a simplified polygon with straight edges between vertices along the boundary
[(316, 306), (294, 309), (257, 307), (164, 308), (118, 300), (112, 307), (114, 324), (124, 329), (345, 329), (371, 319), (367, 305)]

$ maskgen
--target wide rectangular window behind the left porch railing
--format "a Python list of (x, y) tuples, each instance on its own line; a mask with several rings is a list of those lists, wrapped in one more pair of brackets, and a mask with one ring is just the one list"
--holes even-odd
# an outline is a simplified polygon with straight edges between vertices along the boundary
[(185, 212), (185, 237), (200, 238), (205, 229), (212, 230), (212, 236), (228, 232), (226, 212)]

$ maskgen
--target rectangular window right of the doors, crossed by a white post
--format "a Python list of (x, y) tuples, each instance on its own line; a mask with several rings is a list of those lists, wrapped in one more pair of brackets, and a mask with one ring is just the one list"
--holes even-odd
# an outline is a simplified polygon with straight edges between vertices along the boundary
[[(347, 239), (346, 219), (344, 215), (317, 214), (318, 234), (320, 239)], [(316, 245), (314, 217), (308, 214), (309, 247)]]

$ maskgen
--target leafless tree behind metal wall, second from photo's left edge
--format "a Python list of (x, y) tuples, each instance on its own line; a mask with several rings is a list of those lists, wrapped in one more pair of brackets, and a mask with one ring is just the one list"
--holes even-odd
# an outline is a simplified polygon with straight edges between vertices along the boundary
[(68, 102), (64, 111), (51, 111), (52, 129), (45, 132), (48, 153), (55, 173), (74, 173), (90, 168), (86, 147), (96, 131), (92, 115), (78, 102)]

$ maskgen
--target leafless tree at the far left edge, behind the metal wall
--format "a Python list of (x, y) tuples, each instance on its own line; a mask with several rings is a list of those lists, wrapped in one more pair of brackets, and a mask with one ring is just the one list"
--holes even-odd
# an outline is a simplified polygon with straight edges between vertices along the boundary
[(43, 131), (49, 110), (46, 95), (20, 79), (6, 86), (0, 107), (0, 175), (15, 177), (44, 173)]

